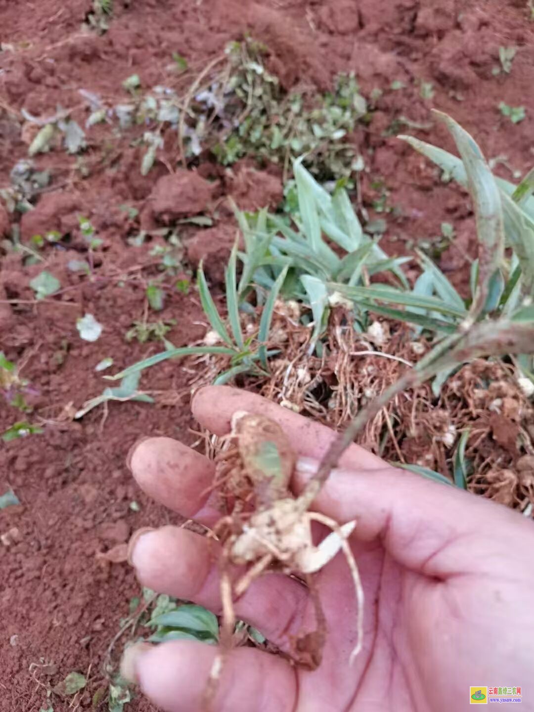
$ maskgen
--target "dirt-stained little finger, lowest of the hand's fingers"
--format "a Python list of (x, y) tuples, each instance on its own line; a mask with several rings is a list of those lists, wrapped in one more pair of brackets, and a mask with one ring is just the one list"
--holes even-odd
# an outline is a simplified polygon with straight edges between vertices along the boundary
[[(214, 646), (172, 641), (143, 650), (135, 660), (142, 691), (167, 712), (199, 712), (217, 654)], [(290, 712), (296, 676), (288, 662), (254, 648), (229, 654), (216, 691), (216, 712)]]

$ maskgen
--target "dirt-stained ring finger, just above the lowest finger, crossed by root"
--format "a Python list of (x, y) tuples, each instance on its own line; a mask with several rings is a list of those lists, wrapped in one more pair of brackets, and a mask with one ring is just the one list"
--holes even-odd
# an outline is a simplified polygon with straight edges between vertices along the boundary
[[(219, 545), (187, 529), (165, 526), (135, 540), (130, 561), (142, 585), (221, 612)], [(308, 590), (283, 574), (252, 582), (235, 602), (237, 617), (246, 620), (276, 644), (286, 647), (305, 614)]]

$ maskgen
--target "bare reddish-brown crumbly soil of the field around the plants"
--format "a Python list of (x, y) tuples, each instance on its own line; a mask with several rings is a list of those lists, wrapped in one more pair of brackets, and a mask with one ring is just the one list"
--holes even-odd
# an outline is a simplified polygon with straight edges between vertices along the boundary
[[(132, 73), (144, 86), (164, 84), (173, 52), (199, 71), (247, 29), (268, 46), (269, 68), (287, 88), (306, 82), (326, 90), (336, 73), (354, 71), (366, 96), (374, 88), (383, 90), (370, 125), (351, 137), (369, 167), (362, 203), (371, 218), (387, 220), (382, 245), (392, 253), (434, 238), (442, 222), (451, 223), (456, 239), (441, 256), (441, 267), (460, 289), (466, 288), (474, 255), (471, 204), (394, 133), (411, 132), (451, 149), (429, 113), (435, 107), (476, 136), (486, 156), (498, 159), (495, 170), (502, 177), (511, 179), (511, 169), (524, 173), (534, 162), (534, 43), (526, 2), (115, 0), (109, 29), (101, 36), (80, 29), (91, 6), (89, 0), (42, 0), (24, 9), (0, 0), (0, 187), (9, 185), (9, 172), (27, 155), (22, 108), (45, 117), (61, 105), (83, 125), (87, 114), (80, 89), (120, 103), (121, 83)], [(510, 74), (493, 74), (500, 46), (518, 48)], [(393, 90), (394, 81), (404, 88)], [(433, 98), (422, 98), (423, 81), (432, 83)], [(525, 120), (513, 125), (498, 111), (501, 101), (523, 105)], [(87, 689), (77, 699), (81, 708), (90, 708), (103, 684), (105, 652), (139, 590), (125, 563), (110, 565), (96, 555), (124, 543), (141, 525), (177, 520), (137, 490), (125, 457), (142, 435), (194, 441), (179, 362), (143, 375), (142, 389), (152, 392), (156, 404), (112, 403), (107, 411), (100, 407), (72, 419), (75, 409), (106, 385), (95, 372), (100, 360), (112, 357), (119, 369), (161, 349), (155, 342), (125, 342), (132, 321), (145, 314), (147, 283), (158, 274), (150, 254), (157, 238), (135, 247), (127, 236), (140, 226), (212, 215), (210, 231), (184, 226), (180, 236), (184, 263), (205, 257), (206, 272), (216, 283), (235, 239), (221, 199), (232, 194), (244, 208), (256, 209), (276, 206), (281, 196), (276, 170), (256, 175), (245, 162), (231, 171), (204, 163), (197, 174), (171, 177), (167, 165), (177, 167), (177, 148), (166, 142), (167, 165), (157, 162), (142, 177), (140, 147), (130, 145), (131, 136), (110, 141), (109, 132), (104, 138), (98, 127), (88, 136), (87, 177), (76, 168), (76, 157), (54, 151), (36, 158), (38, 169), (50, 169), (52, 179), (34, 211), (20, 221), (0, 201), (2, 236), (19, 221), (23, 241), (50, 230), (70, 235), (61, 246), (42, 251), (46, 269), (62, 288), (46, 303), (34, 303), (28, 286), (43, 264), (23, 266), (20, 255), (0, 253), (0, 350), (30, 382), (34, 408), (25, 416), (2, 403), (0, 431), (25, 417), (46, 421), (41, 435), (0, 443), (0, 493), (11, 486), (21, 501), (0, 513), (0, 534), (19, 530), (18, 541), (0, 545), (2, 712), (46, 709), (46, 686), (73, 670), (88, 674)], [(190, 199), (180, 200), (184, 195)], [(392, 211), (377, 213), (373, 204), (384, 196)], [(122, 204), (137, 209), (139, 217), (132, 219)], [(103, 239), (92, 278), (67, 268), (70, 260), (87, 258), (80, 214)], [(76, 330), (75, 320), (84, 313), (103, 324), (94, 343), (80, 340)], [(176, 321), (167, 334), (176, 346), (200, 339), (206, 330), (194, 289), (187, 295), (169, 290), (164, 310), (150, 319)], [(132, 511), (132, 501), (140, 511)], [(120, 640), (117, 654), (121, 645)], [(57, 696), (52, 703), (56, 712), (70, 705)], [(151, 707), (137, 699), (130, 709)]]

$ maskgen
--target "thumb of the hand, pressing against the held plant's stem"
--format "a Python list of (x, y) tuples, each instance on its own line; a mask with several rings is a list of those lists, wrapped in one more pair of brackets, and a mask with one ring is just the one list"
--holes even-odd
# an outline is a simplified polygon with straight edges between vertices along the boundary
[[(295, 491), (303, 491), (318, 466), (298, 460)], [(399, 564), (431, 577), (494, 573), (503, 557), (510, 562), (526, 552), (534, 560), (534, 528), (519, 513), (394, 467), (334, 469), (312, 508), (339, 523), (356, 520), (355, 538), (378, 539)]]

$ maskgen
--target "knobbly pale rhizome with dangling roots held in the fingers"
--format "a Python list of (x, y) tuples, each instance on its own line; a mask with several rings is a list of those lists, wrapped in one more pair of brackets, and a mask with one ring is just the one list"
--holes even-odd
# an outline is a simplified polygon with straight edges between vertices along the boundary
[[(266, 570), (297, 575), (308, 584), (315, 606), (316, 629), (293, 637), (290, 655), (296, 664), (315, 669), (320, 665), (327, 631), (313, 574), (342, 550), (354, 582), (358, 607), (357, 644), (351, 660), (360, 652), (363, 641), (363, 590), (347, 542), (356, 523), (339, 525), (330, 517), (308, 511), (318, 491), (315, 478), (310, 479), (300, 496), (292, 495), (290, 479), (297, 455), (281, 426), (265, 416), (237, 412), (232, 419), (231, 433), (223, 439), (216, 459), (219, 467), (214, 487), (225, 512), (214, 527), (214, 535), (221, 545), (223, 612), (220, 651), (206, 688), (208, 707), (232, 646), (236, 625), (234, 600), (244, 595), (253, 580)], [(314, 521), (332, 530), (317, 546), (313, 545), (311, 533)], [(235, 566), (247, 567), (236, 581), (232, 580)]]

